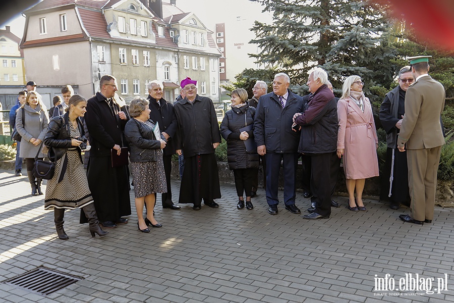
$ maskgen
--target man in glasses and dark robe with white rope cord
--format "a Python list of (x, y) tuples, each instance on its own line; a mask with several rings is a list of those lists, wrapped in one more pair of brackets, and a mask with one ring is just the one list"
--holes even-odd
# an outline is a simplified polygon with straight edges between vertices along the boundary
[[(399, 71), (399, 85), (388, 92), (380, 106), (380, 121), (386, 131), (386, 162), (381, 174), (380, 200), (390, 200), (391, 209), (399, 209), (401, 204), (410, 205), (408, 187), (407, 151), (397, 149), (397, 136), (405, 114), (405, 94), (414, 81), (409, 66)], [(394, 151), (394, 153), (393, 153)], [(393, 180), (390, 181), (392, 155), (394, 154)], [(391, 196), (389, 197), (389, 186)]]

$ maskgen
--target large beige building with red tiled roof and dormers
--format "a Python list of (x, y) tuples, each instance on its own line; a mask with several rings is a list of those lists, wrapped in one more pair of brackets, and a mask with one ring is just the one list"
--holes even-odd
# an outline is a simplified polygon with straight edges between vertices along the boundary
[[(218, 99), (221, 54), (213, 32), (175, 1), (43, 0), (25, 15), (27, 78), (41, 85), (78, 85), (88, 98), (99, 90), (100, 77), (111, 74), (128, 102), (146, 96), (147, 83), (157, 79), (172, 102), (179, 81), (189, 76), (199, 94)], [(209, 62), (216, 62), (214, 71)]]

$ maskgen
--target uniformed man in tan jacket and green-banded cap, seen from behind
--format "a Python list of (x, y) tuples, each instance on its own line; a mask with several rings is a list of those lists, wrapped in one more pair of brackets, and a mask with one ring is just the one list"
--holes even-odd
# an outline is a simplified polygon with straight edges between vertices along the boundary
[(410, 215), (400, 215), (404, 222), (431, 223), (435, 204), (437, 170), (441, 145), (444, 144), (440, 115), (445, 91), (429, 72), (429, 57), (410, 57), (415, 82), (405, 95), (405, 115), (398, 137), (398, 148), (407, 145)]

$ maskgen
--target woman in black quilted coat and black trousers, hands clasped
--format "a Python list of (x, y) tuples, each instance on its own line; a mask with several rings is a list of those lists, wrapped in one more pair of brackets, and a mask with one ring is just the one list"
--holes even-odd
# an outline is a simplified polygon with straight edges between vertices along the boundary
[[(227, 140), (227, 160), (234, 171), (239, 210), (244, 208), (243, 193), (246, 193), (246, 208), (252, 210), (252, 181), (258, 173), (259, 156), (254, 145), (252, 125), (255, 108), (246, 104), (248, 93), (243, 88), (232, 91), (232, 109), (225, 113), (220, 125), (222, 137)], [(249, 146), (252, 143), (252, 146)], [(246, 149), (249, 146), (249, 152)], [(254, 148), (255, 147), (255, 148)]]

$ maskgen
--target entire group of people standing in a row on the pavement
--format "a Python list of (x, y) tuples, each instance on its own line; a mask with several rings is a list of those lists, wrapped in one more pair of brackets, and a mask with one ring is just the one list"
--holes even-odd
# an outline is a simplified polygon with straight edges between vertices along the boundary
[[(380, 108), (387, 156), (392, 159), (391, 164), (389, 159), (386, 162), (391, 185), (384, 182), (383, 187), (389, 190), (393, 209), (410, 196), (411, 213), (401, 215), (401, 220), (423, 224), (433, 219), (436, 172), (444, 143), (440, 124), (444, 89), (428, 76), (427, 56), (415, 57), (410, 64), (401, 69), (399, 86), (386, 95)], [(309, 74), (309, 94), (304, 97), (289, 89), (288, 75), (278, 73), (270, 93), (263, 81), (257, 81), (249, 100), (246, 90), (233, 90), (232, 109), (220, 127), (211, 99), (199, 96), (196, 85), (189, 77), (183, 79), (180, 98), (172, 104), (162, 98), (162, 83), (151, 81), (148, 98), (135, 97), (126, 105), (116, 93), (115, 77), (104, 75), (100, 90), (88, 100), (66, 86), (69, 95), (64, 104), (56, 100), (50, 122), (39, 93), (34, 89), (20, 93), (21, 105), (15, 113), (15, 128), (22, 136), (19, 156), (26, 160), (32, 195), (43, 194), (42, 179), (32, 173), (35, 159), (47, 156), (55, 163), (45, 209), (54, 210), (59, 238), (68, 239), (63, 229), (66, 209), (81, 209), (80, 223), (89, 223), (92, 236), (107, 233), (100, 226), (116, 228), (128, 223), (124, 217), (131, 215), (129, 168), (138, 229), (147, 233), (149, 226), (161, 227), (153, 211), (157, 193), (162, 193), (163, 208), (180, 209), (172, 199), (170, 182), (174, 154), (184, 157), (179, 203), (192, 204), (197, 211), (203, 200), (206, 206), (217, 208), (214, 199), (221, 194), (214, 151), (221, 136), (228, 145), (238, 209), (254, 208), (251, 198), (257, 191), (261, 163), (268, 213), (277, 215), (277, 176), (282, 164), (285, 209), (301, 214), (295, 205), (296, 168), (303, 155), (311, 194), (304, 219), (329, 218), (331, 207), (338, 207), (332, 195), (341, 159), (349, 193), (347, 208), (366, 211), (362, 192), (365, 179), (378, 176), (378, 139), (359, 76), (345, 80), (339, 99), (321, 68)], [(81, 152), (87, 138), (91, 149), (85, 173)], [(49, 148), (47, 155), (42, 153), (43, 144)]]

